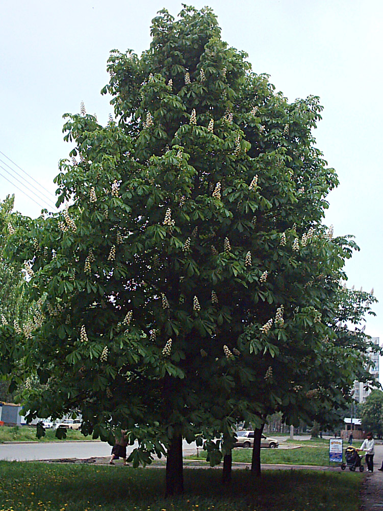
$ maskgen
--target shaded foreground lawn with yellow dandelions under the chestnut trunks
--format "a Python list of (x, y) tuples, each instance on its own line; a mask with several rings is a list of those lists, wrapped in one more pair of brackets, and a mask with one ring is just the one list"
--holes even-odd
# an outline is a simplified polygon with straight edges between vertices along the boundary
[[(185, 469), (185, 494), (167, 498), (163, 469), (0, 461), (1, 511), (358, 511), (363, 475)], [(253, 489), (253, 490), (252, 490)]]

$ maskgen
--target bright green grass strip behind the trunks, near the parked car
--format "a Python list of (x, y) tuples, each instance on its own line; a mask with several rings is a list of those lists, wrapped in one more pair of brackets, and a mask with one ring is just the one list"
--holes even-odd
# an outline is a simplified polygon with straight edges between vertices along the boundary
[[(199, 451), (198, 458), (206, 459), (206, 451)], [(252, 449), (233, 449), (233, 461), (251, 463)], [(197, 459), (196, 455), (188, 457)], [(297, 449), (261, 449), (261, 463), (293, 465), (328, 465), (328, 447), (304, 446)], [(333, 463), (331, 463), (333, 465)]]

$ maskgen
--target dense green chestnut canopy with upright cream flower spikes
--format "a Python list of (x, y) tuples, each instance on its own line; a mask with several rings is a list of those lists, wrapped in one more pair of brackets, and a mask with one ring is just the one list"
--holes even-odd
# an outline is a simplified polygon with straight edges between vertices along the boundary
[(319, 99), (289, 103), (209, 8), (160, 11), (151, 36), (141, 57), (111, 52), (116, 121), (65, 115), (65, 211), (10, 237), (42, 318), (17, 337), (40, 382), (29, 417), (123, 427), (136, 462), (200, 432), (229, 446), (237, 420), (275, 410), (329, 424), (369, 378), (374, 298), (342, 287), (357, 247), (322, 223), (338, 178), (315, 146)]

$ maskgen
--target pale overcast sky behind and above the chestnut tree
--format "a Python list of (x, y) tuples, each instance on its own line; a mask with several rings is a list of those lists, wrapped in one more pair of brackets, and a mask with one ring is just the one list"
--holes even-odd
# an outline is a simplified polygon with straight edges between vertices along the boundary
[[(189, 2), (188, 2), (189, 4)], [(193, 2), (197, 8), (207, 2)], [(347, 263), (348, 285), (369, 291), (380, 304), (366, 332), (383, 337), (382, 230), (382, 14), (379, 0), (211, 0), (222, 38), (249, 54), (256, 73), (268, 73), (290, 101), (320, 96), (323, 120), (317, 146), (340, 178), (329, 196), (328, 225), (352, 234), (361, 247)], [(21, 213), (38, 216), (42, 199), (10, 177), (10, 168), (38, 188), (10, 158), (46, 188), (55, 201), (53, 178), (68, 156), (62, 115), (88, 113), (101, 124), (113, 110), (99, 94), (108, 82), (109, 51), (150, 43), (150, 20), (174, 0), (3, 0), (0, 17), (0, 198), (15, 193)], [(4, 156), (6, 155), (6, 156)], [(17, 179), (22, 180), (16, 176)], [(14, 184), (7, 181), (11, 179)], [(48, 193), (49, 192), (49, 193)], [(44, 201), (48, 201), (47, 197)]]

